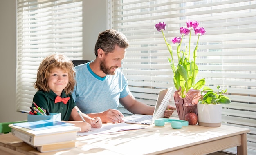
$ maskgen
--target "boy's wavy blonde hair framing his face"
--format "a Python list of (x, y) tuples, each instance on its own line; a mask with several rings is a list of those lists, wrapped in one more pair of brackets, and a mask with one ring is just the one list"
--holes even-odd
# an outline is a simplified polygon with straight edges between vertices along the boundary
[(47, 79), (50, 76), (51, 69), (53, 69), (54, 67), (63, 69), (68, 73), (68, 84), (64, 91), (66, 94), (71, 94), (76, 84), (76, 81), (74, 79), (74, 64), (69, 58), (61, 54), (53, 54), (43, 59), (37, 71), (37, 78), (36, 82), (34, 83), (34, 87), (37, 90), (49, 92), (50, 88), (48, 86)]

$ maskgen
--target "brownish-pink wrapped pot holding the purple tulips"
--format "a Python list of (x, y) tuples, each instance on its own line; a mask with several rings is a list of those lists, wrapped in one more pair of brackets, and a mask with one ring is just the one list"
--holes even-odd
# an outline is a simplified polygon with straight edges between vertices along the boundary
[(174, 92), (174, 102), (177, 108), (177, 113), (180, 120), (185, 119), (187, 113), (198, 114), (197, 103), (201, 98), (201, 91), (196, 89), (189, 89), (189, 92), (186, 93), (186, 97), (182, 98), (180, 96), (180, 90)]

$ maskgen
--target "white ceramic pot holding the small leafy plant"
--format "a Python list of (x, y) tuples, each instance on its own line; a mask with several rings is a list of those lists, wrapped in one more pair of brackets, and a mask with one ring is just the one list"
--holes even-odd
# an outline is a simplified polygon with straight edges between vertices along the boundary
[(198, 125), (207, 127), (221, 126), (222, 104), (198, 104)]

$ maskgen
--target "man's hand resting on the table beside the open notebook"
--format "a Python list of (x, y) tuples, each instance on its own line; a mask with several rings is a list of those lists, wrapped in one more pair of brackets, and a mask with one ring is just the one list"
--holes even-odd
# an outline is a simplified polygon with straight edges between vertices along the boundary
[(116, 110), (116, 109), (108, 109), (106, 111), (99, 113), (98, 116), (101, 118), (102, 122), (104, 122), (104, 123), (124, 122), (124, 120), (122, 119), (124, 117), (124, 115), (119, 110)]

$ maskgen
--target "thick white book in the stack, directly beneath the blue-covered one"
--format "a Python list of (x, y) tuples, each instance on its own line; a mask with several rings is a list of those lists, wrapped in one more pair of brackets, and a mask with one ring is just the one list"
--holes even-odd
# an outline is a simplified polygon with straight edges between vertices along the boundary
[(9, 127), (12, 128), (11, 133), (14, 136), (31, 146), (76, 140), (76, 134), (80, 131), (80, 128), (76, 126), (61, 126), (43, 130), (31, 130), (13, 124), (9, 124)]

